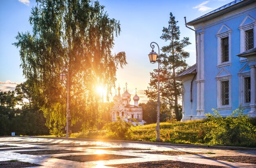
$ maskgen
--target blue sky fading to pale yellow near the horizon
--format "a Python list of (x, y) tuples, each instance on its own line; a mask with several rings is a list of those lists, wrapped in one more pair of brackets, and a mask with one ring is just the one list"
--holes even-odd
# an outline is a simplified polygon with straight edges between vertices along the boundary
[[(189, 37), (192, 43), (185, 48), (190, 52), (186, 62), (191, 66), (195, 64), (195, 33), (185, 27), (184, 17), (189, 22), (232, 0), (99, 0), (99, 2), (105, 6), (110, 18), (119, 20), (121, 24), (121, 33), (115, 38), (112, 52), (126, 52), (128, 65), (117, 70), (116, 87), (120, 85), (122, 94), (127, 82), (127, 89), (132, 97), (137, 88), (139, 103), (145, 103), (148, 99), (144, 90), (150, 82), (150, 72), (157, 68), (157, 63), (151, 64), (148, 60), (148, 54), (152, 50), (150, 43), (156, 42), (160, 49), (168, 45), (168, 42), (160, 39), (160, 36), (163, 27), (168, 26), (170, 12), (180, 26), (180, 39)], [(18, 83), (25, 81), (20, 68), (19, 48), (12, 44), (16, 42), (15, 37), (18, 32), (32, 31), (29, 16), (35, 5), (36, 0), (0, 0), (0, 90), (14, 89)], [(156, 52), (157, 50), (155, 49)], [(113, 91), (114, 95), (115, 91)]]

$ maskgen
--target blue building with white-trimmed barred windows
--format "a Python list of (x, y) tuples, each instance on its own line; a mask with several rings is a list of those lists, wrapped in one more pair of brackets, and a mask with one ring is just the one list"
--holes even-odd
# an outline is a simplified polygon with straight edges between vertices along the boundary
[(256, 0), (235, 0), (187, 23), (195, 29), (196, 64), (182, 72), (182, 120), (222, 116), (242, 105), (256, 117)]

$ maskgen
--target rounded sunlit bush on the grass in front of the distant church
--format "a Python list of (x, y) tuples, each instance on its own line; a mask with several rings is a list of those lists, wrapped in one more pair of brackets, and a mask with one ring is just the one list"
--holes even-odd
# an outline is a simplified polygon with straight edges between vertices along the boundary
[(106, 124), (102, 130), (106, 130), (106, 136), (110, 139), (128, 140), (131, 137), (132, 124), (117, 118), (116, 122)]

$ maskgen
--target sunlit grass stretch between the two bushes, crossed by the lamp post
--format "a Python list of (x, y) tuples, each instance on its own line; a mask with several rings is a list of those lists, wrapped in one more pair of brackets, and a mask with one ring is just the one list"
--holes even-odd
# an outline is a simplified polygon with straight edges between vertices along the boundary
[[(160, 123), (160, 139), (163, 142), (180, 144), (207, 144), (204, 139), (209, 127), (205, 120), (193, 120), (186, 122), (162, 122)], [(156, 124), (132, 127), (132, 140), (155, 141)]]

